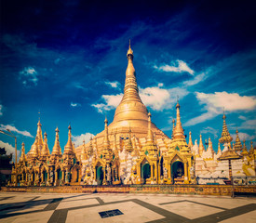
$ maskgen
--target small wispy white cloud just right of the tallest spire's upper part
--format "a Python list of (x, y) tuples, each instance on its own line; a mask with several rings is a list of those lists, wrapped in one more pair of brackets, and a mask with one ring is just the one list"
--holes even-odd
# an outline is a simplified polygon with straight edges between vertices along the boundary
[(194, 71), (182, 60), (177, 59), (176, 61), (171, 62), (171, 66), (166, 64), (160, 67), (157, 67), (156, 65), (154, 68), (157, 71), (163, 71), (163, 72), (188, 72), (191, 75), (194, 75)]

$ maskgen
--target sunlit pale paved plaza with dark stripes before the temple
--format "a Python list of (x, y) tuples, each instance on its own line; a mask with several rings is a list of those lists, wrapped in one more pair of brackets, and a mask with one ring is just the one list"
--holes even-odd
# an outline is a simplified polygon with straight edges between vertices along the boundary
[(0, 192), (0, 222), (256, 222), (255, 198)]

